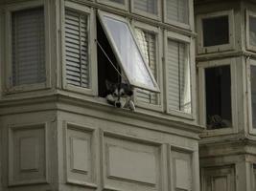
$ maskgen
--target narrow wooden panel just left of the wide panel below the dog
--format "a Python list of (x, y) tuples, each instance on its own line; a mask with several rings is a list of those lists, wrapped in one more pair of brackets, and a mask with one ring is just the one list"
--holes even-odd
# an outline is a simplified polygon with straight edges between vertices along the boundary
[(66, 126), (67, 182), (81, 185), (94, 183), (93, 131), (82, 126)]

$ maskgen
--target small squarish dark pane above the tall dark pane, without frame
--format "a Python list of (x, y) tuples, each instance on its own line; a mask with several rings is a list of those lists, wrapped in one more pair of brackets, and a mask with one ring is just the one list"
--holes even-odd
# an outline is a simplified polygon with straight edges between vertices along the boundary
[(202, 19), (203, 46), (216, 46), (229, 43), (228, 16)]

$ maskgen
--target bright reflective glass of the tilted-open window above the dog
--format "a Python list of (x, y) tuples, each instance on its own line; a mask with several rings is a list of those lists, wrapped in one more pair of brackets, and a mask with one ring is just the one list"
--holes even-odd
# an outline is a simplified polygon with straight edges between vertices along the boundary
[(150, 71), (135, 44), (128, 24), (108, 16), (104, 16), (103, 20), (109, 35), (114, 40), (112, 43), (120, 56), (130, 84), (143, 89), (156, 90)]

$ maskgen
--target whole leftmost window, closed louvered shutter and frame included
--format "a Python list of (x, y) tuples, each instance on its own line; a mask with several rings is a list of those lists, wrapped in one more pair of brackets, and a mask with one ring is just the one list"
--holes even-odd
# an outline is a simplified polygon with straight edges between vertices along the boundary
[[(47, 4), (47, 3), (45, 3)], [(6, 7), (7, 91), (31, 91), (50, 86), (48, 6), (34, 1)]]

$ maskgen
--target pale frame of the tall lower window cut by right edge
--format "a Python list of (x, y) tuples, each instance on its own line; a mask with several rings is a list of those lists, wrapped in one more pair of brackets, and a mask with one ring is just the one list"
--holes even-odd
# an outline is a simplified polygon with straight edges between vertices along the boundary
[[(254, 61), (252, 61), (254, 60)], [(254, 63), (253, 63), (254, 62)], [(250, 134), (256, 134), (256, 128), (253, 128), (252, 124), (252, 108), (251, 108), (251, 80), (250, 80), (250, 66), (255, 66), (256, 67), (256, 59), (248, 59), (246, 61), (246, 69), (247, 69), (247, 90), (248, 90), (248, 124), (249, 124), (249, 133)]]

